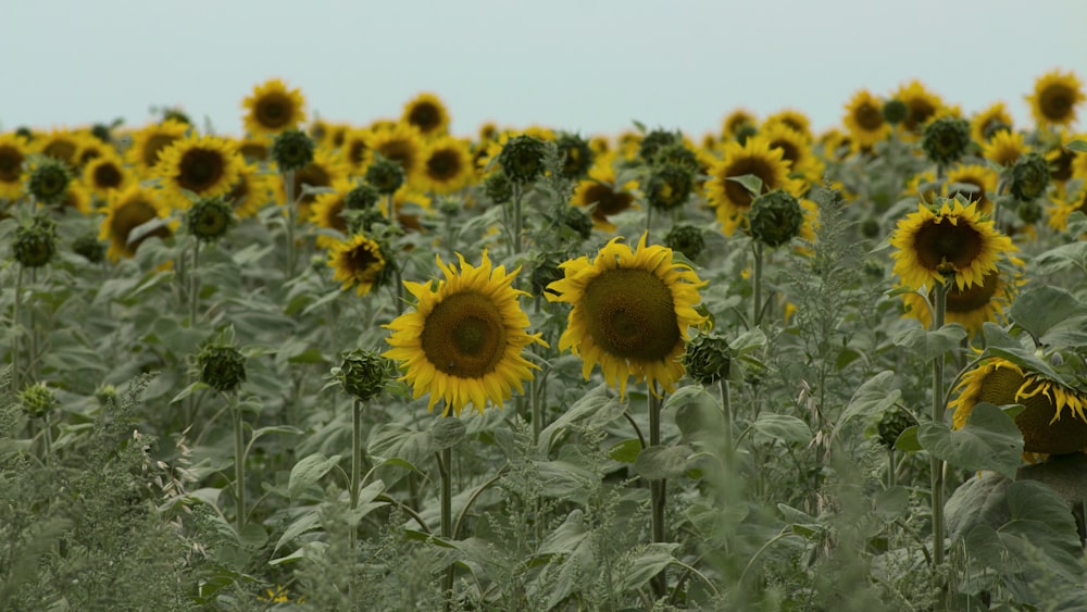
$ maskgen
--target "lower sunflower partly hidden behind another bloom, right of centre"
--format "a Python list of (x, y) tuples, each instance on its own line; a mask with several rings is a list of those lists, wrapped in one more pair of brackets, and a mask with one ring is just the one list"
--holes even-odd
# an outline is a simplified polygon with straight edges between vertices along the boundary
[[(945, 321), (960, 323), (971, 334), (979, 333), (986, 321), (1003, 325), (1007, 321), (1005, 310), (1016, 293), (1016, 283), (1007, 280), (1010, 274), (1008, 271), (997, 268), (985, 273), (980, 283), (975, 283), (966, 289), (951, 287), (947, 295)], [(930, 327), (933, 323), (928, 308), (933, 299), (932, 291), (928, 299), (929, 302), (926, 303), (917, 292), (902, 293), (905, 316), (916, 319), (925, 328)]]

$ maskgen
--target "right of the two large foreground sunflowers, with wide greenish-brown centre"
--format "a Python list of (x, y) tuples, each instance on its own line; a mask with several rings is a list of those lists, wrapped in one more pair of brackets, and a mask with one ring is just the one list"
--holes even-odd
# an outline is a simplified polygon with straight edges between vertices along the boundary
[(672, 259), (672, 249), (637, 249), (612, 238), (595, 260), (587, 257), (560, 265), (565, 277), (551, 283), (545, 297), (573, 304), (559, 350), (570, 349), (583, 361), (586, 379), (599, 363), (604, 380), (626, 395), (630, 376), (648, 380), (660, 397), (684, 375), (679, 361), (688, 327), (705, 317), (695, 310), (705, 283), (694, 270)]

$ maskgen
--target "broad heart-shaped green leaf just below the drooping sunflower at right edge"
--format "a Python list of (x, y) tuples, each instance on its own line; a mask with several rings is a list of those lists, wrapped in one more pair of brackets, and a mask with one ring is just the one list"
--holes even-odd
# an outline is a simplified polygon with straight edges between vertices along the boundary
[(961, 429), (924, 423), (917, 440), (933, 457), (963, 470), (992, 470), (1009, 478), (1022, 463), (1023, 434), (1011, 416), (991, 403), (978, 403)]

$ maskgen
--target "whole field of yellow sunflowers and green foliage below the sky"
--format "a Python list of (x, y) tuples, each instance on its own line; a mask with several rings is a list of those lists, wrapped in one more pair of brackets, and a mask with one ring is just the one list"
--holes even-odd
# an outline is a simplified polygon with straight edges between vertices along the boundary
[(0, 610), (1087, 609), (1087, 96), (1024, 96), (0, 132)]

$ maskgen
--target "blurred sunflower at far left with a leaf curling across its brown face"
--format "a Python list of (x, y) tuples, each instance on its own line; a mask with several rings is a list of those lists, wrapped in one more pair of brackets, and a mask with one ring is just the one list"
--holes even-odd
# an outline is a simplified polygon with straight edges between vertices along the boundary
[(152, 236), (159, 238), (173, 236), (177, 223), (164, 223), (136, 239), (132, 239), (133, 230), (150, 221), (164, 220), (168, 216), (170, 205), (159, 198), (158, 192), (133, 185), (127, 189), (110, 193), (105, 218), (102, 220), (98, 238), (110, 241), (110, 249), (105, 254), (112, 261), (130, 258), (136, 254), (136, 249), (143, 240)]

